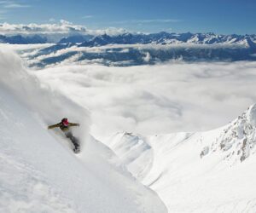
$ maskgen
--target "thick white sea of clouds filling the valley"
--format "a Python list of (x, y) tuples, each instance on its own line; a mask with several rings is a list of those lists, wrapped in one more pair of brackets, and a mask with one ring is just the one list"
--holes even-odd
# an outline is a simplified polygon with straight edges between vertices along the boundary
[(91, 112), (91, 131), (144, 135), (217, 128), (256, 100), (255, 62), (59, 66), (38, 78)]

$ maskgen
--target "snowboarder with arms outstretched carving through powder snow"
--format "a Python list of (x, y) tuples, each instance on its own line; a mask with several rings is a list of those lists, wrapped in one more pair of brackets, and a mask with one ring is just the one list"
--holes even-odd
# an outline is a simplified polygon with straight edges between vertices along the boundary
[(63, 118), (60, 123), (50, 125), (48, 127), (48, 129), (53, 129), (53, 128), (59, 127), (64, 132), (66, 137), (69, 138), (70, 141), (73, 142), (73, 146), (74, 146), (73, 152), (79, 153), (79, 151), (80, 151), (79, 140), (73, 136), (72, 131), (70, 130), (71, 126), (79, 126), (79, 125), (80, 124), (70, 123), (70, 122), (68, 122), (67, 118)]

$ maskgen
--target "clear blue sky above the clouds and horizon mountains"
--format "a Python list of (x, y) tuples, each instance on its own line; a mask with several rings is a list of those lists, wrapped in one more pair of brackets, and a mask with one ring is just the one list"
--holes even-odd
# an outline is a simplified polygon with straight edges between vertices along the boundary
[(0, 22), (68, 20), (90, 29), (134, 32), (256, 33), (253, 0), (0, 0)]

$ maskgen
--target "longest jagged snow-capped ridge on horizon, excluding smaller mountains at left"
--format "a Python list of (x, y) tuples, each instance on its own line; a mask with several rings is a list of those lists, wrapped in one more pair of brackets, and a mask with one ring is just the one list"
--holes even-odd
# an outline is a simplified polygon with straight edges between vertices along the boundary
[(147, 44), (147, 43), (198, 43), (198, 44), (216, 44), (216, 43), (237, 43), (244, 44), (246, 48), (255, 48), (255, 35), (215, 35), (214, 33), (168, 33), (159, 32), (154, 34), (131, 34), (125, 33), (118, 36), (109, 36), (107, 34), (96, 36), (81, 43), (82, 47), (95, 47), (107, 44)]

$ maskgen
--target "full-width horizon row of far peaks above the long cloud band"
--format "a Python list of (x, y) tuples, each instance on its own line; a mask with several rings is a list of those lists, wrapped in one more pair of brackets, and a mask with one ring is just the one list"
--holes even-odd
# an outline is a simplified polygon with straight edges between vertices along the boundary
[[(59, 40), (53, 39), (53, 37), (59, 37)], [(26, 34), (17, 35), (0, 35), (0, 43), (81, 43), (81, 47), (96, 47), (107, 44), (148, 44), (148, 43), (201, 43), (201, 44), (214, 44), (214, 43), (242, 43), (243, 41), (250, 39), (256, 40), (256, 35), (217, 35), (210, 33), (131, 33), (125, 32), (118, 35), (102, 34), (93, 36), (90, 34), (32, 34), (28, 36)]]

